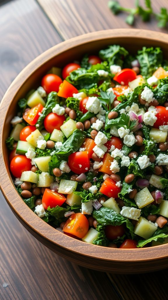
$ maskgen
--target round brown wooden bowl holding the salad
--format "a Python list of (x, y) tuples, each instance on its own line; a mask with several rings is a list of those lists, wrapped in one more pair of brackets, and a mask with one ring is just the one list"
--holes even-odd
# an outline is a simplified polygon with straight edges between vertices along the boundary
[(41, 220), (17, 193), (9, 170), (5, 140), (10, 121), (16, 115), (16, 104), (34, 87), (52, 66), (63, 67), (85, 53), (95, 54), (110, 44), (120, 44), (134, 53), (142, 46), (159, 46), (168, 59), (168, 35), (140, 29), (114, 29), (92, 32), (62, 42), (35, 58), (16, 77), (0, 105), (0, 186), (18, 220), (42, 244), (58, 255), (81, 266), (114, 273), (143, 273), (168, 267), (168, 244), (141, 249), (116, 249), (87, 244), (71, 238)]

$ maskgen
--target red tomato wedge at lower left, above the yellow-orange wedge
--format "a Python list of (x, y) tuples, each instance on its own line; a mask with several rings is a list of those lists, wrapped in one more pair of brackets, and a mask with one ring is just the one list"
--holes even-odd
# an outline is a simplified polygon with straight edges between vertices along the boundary
[(45, 209), (50, 206), (50, 208), (56, 207), (56, 205), (61, 206), (66, 201), (64, 195), (57, 192), (52, 192), (48, 188), (45, 189), (45, 192), (42, 196), (42, 205)]

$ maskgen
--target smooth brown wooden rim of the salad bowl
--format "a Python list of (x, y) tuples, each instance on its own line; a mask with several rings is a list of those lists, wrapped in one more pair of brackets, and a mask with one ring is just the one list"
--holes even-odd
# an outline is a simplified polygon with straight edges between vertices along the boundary
[[(0, 163), (1, 170), (3, 171), (0, 178), (0, 187), (8, 205), (13, 210), (16, 217), (22, 220), (22, 223), (25, 223), (30, 231), (34, 232), (34, 234), (41, 236), (43, 239), (48, 240), (50, 243), (53, 243), (57, 247), (61, 247), (62, 249), (68, 250), (74, 254), (80, 254), (81, 256), (106, 260), (109, 262), (140, 262), (163, 259), (168, 257), (168, 244), (138, 249), (115, 249), (103, 246), (98, 247), (97, 245), (87, 244), (83, 241), (69, 237), (59, 230), (56, 230), (54, 227), (45, 223), (45, 221), (34, 214), (34, 212), (25, 204), (25, 202), (22, 201), (22, 198), (19, 196), (16, 189), (13, 188), (14, 184), (10, 176), (10, 171), (7, 170), (6, 163), (4, 161), (3, 154), (6, 151), (6, 146), (3, 138), (3, 133), (5, 130), (5, 120), (7, 119), (7, 115), (10, 109), (9, 106), (18, 93), (19, 89), (25, 84), (28, 78), (30, 78), (30, 76), (32, 76), (32, 74), (43, 64), (46, 64), (56, 55), (59, 55), (69, 49), (83, 45), (85, 43), (106, 39), (113, 40), (114, 38), (143, 38), (144, 41), (158, 41), (162, 44), (168, 45), (167, 34), (154, 32), (151, 30), (108, 29), (98, 32), (91, 32), (75, 38), (71, 38), (70, 40), (63, 41), (62, 43), (51, 47), (50, 49), (46, 50), (41, 55), (36, 57), (33, 61), (31, 61), (19, 73), (19, 75), (17, 75), (17, 77), (7, 89), (0, 104), (0, 110), (2, 112), (0, 119)], [(96, 253), (96, 256), (94, 255), (94, 253)]]

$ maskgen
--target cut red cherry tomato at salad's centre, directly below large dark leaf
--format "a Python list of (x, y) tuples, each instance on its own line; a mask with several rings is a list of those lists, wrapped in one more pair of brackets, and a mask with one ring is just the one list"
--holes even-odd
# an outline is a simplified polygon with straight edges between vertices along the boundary
[(72, 172), (82, 174), (89, 170), (90, 161), (87, 151), (75, 152), (69, 155), (68, 165)]

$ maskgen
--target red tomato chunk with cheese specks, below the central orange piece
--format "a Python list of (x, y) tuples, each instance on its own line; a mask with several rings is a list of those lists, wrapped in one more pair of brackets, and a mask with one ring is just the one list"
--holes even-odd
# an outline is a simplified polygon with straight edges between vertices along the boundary
[(106, 178), (105, 181), (103, 182), (102, 186), (100, 187), (100, 193), (108, 196), (109, 198), (118, 197), (118, 193), (121, 191), (121, 187), (117, 187), (115, 185), (116, 182), (112, 180), (111, 178)]

